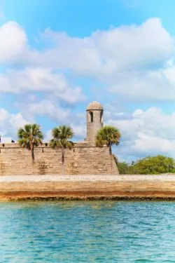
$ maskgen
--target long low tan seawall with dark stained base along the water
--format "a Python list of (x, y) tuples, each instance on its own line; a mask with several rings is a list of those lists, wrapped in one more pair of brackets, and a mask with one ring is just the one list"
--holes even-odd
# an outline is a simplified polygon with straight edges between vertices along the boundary
[(175, 176), (12, 175), (0, 177), (0, 201), (131, 198), (175, 200)]

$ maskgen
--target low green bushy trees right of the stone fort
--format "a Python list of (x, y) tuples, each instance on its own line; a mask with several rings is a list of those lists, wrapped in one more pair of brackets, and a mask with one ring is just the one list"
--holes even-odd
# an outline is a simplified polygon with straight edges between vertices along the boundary
[(160, 175), (175, 173), (175, 160), (171, 157), (158, 155), (147, 156), (132, 163), (118, 162), (114, 156), (120, 175)]

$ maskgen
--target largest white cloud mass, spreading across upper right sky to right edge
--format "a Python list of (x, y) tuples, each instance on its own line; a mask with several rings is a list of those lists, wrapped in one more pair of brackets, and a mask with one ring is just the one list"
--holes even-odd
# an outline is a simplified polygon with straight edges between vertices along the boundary
[(113, 27), (83, 39), (45, 30), (53, 46), (33, 56), (34, 62), (71, 69), (103, 83), (123, 100), (175, 100), (172, 81), (174, 39), (158, 18), (141, 25)]

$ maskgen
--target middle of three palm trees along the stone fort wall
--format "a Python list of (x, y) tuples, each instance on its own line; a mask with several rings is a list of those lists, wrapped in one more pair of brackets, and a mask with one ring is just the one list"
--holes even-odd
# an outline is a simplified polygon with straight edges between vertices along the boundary
[(50, 146), (55, 149), (62, 149), (62, 175), (64, 174), (65, 149), (72, 149), (73, 142), (69, 139), (73, 137), (73, 130), (69, 126), (59, 126), (52, 129), (52, 140)]

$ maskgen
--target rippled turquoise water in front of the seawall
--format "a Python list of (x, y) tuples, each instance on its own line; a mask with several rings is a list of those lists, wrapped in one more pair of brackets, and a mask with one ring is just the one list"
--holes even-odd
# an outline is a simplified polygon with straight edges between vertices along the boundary
[(175, 203), (0, 203), (0, 262), (175, 262)]

